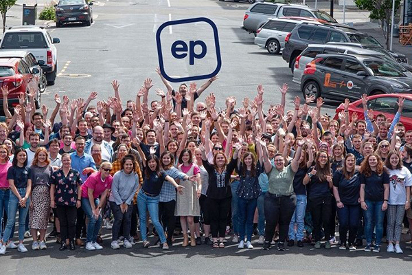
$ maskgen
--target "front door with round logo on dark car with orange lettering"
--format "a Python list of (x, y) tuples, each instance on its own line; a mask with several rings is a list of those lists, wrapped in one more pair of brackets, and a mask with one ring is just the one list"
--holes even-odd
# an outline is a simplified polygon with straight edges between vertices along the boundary
[(367, 77), (356, 75), (358, 72), (367, 72), (367, 69), (356, 58), (345, 58), (341, 73), (345, 83), (341, 87), (341, 92), (353, 100), (361, 98), (362, 94), (367, 94), (368, 90)]

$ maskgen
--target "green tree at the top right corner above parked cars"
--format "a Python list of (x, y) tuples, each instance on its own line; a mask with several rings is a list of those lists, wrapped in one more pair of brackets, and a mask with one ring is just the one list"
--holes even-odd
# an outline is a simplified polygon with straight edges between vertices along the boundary
[[(389, 36), (391, 35), (392, 0), (354, 0), (361, 10), (369, 10), (370, 19), (380, 20), (383, 36), (389, 49)], [(400, 0), (395, 0), (395, 12), (398, 10)]]

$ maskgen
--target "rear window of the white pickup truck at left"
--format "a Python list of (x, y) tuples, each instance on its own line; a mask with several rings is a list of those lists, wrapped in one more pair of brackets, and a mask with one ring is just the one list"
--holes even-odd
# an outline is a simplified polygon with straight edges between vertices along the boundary
[(47, 48), (41, 32), (9, 32), (5, 34), (1, 49), (43, 49)]

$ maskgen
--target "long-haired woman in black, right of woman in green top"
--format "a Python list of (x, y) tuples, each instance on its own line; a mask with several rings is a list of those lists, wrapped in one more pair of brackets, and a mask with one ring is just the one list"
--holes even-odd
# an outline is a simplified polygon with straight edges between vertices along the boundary
[(308, 207), (313, 221), (314, 248), (321, 248), (321, 229), (325, 234), (325, 248), (330, 249), (330, 216), (332, 214), (332, 195), (330, 189), (333, 186), (330, 158), (326, 151), (319, 151), (315, 158), (315, 164), (305, 175), (304, 184), (308, 191)]

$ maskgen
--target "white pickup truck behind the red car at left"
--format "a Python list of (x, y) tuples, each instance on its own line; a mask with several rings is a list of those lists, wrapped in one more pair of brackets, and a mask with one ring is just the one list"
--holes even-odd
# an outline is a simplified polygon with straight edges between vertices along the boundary
[(57, 49), (54, 44), (60, 39), (50, 36), (39, 26), (18, 26), (6, 30), (0, 43), (0, 52), (25, 50), (31, 52), (36, 61), (43, 61), (41, 68), (46, 75), (47, 85), (54, 85), (57, 76)]

